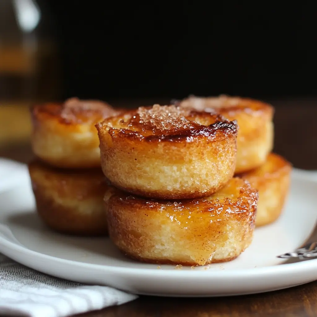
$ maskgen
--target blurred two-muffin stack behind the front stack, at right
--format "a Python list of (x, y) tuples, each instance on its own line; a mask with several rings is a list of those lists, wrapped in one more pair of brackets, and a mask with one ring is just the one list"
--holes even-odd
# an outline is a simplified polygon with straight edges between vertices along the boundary
[(274, 108), (264, 102), (240, 97), (190, 96), (179, 106), (198, 111), (217, 111), (239, 126), (235, 174), (259, 191), (256, 226), (273, 223), (281, 214), (290, 183), (291, 164), (272, 153)]

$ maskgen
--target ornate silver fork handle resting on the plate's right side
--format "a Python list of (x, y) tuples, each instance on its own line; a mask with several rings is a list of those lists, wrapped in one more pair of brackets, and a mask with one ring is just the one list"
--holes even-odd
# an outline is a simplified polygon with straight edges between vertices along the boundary
[(317, 225), (315, 226), (312, 234), (300, 248), (281, 254), (277, 257), (281, 259), (288, 259), (288, 261), (282, 262), (281, 264), (295, 263), (317, 258)]

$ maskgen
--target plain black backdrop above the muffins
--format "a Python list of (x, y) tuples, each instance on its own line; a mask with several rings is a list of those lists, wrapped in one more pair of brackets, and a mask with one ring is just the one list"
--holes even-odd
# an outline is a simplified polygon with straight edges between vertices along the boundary
[(210, 3), (39, 1), (60, 50), (60, 97), (317, 95), (313, 2)]

